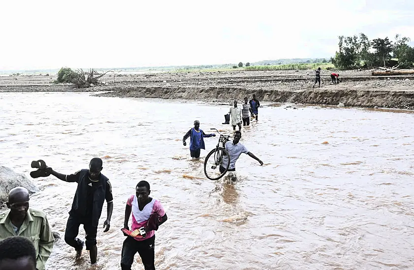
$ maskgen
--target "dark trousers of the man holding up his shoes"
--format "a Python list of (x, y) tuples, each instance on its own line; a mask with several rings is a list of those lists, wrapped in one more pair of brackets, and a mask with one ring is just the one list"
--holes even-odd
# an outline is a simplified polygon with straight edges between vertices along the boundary
[(69, 216), (66, 223), (66, 230), (64, 231), (64, 242), (73, 246), (76, 250), (83, 246), (82, 241), (77, 238), (81, 224), (83, 224), (86, 233), (86, 249), (90, 250), (92, 246), (96, 245), (96, 232), (98, 229), (92, 225), (92, 220), (90, 222), (84, 222), (73, 216)]

